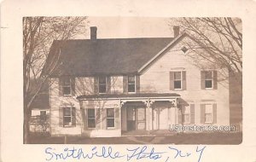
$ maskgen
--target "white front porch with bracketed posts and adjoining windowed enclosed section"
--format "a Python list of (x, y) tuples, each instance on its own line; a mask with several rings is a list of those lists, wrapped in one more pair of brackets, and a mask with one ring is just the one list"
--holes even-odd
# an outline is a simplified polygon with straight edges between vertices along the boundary
[[(160, 136), (172, 135), (171, 124), (177, 124), (180, 111), (177, 94), (101, 94), (79, 96), (85, 113), (96, 108), (96, 129), (85, 128), (87, 136)], [(105, 109), (113, 108), (114, 129), (108, 129)], [(104, 113), (105, 112), (105, 113)], [(86, 114), (85, 118), (86, 119)], [(85, 121), (86, 122), (86, 121)], [(86, 126), (86, 124), (85, 124)], [(111, 132), (117, 134), (111, 134)], [(111, 134), (111, 135), (110, 135)]]

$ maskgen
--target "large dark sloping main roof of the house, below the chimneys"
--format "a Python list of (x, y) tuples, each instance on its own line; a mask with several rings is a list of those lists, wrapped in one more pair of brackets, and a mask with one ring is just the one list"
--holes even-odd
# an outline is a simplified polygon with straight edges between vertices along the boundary
[[(116, 38), (54, 41), (42, 74), (52, 61), (59, 66), (52, 75), (137, 73), (174, 38)], [(60, 56), (59, 56), (60, 54)]]

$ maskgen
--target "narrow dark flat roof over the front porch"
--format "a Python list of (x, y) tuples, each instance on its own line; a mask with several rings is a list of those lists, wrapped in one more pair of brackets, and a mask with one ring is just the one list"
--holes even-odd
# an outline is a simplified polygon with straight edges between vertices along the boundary
[(109, 98), (109, 99), (126, 99), (126, 98), (160, 98), (160, 97), (180, 97), (176, 93), (134, 93), (134, 94), (97, 94), (97, 95), (79, 95), (78, 100)]

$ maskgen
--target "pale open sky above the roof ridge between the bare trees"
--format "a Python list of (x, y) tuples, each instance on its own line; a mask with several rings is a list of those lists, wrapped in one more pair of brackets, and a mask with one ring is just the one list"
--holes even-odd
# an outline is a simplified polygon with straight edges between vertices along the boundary
[(90, 38), (90, 26), (97, 27), (97, 38), (173, 37), (170, 18), (166, 17), (89, 17), (88, 20), (83, 38)]

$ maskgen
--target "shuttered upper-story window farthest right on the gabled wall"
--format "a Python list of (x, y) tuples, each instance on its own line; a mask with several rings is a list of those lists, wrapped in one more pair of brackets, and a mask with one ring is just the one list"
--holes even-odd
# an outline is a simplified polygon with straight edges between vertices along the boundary
[(217, 89), (217, 71), (201, 71), (201, 89)]

